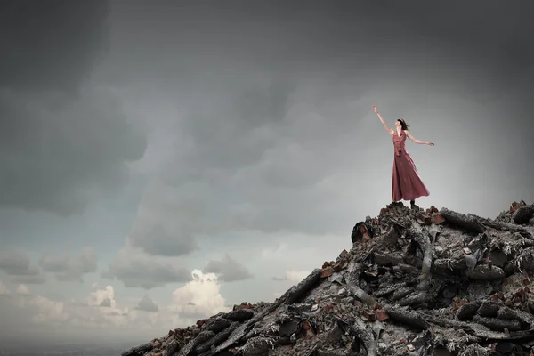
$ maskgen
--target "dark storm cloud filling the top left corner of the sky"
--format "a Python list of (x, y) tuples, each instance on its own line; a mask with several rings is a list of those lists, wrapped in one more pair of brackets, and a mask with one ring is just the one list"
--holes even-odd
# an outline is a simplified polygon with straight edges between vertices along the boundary
[(0, 4), (1, 85), (77, 91), (107, 46), (107, 0)]

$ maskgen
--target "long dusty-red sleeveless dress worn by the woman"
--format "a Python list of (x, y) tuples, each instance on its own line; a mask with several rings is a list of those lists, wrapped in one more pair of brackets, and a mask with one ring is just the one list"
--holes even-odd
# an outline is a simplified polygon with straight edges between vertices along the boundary
[(413, 200), (428, 197), (430, 192), (417, 173), (416, 164), (406, 150), (406, 133), (394, 130), (392, 134), (395, 156), (393, 159), (392, 200)]

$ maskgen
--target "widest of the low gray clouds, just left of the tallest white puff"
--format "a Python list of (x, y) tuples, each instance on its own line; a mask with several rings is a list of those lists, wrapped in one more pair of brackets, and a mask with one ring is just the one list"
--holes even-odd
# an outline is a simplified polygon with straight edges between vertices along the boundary
[(169, 283), (182, 283), (191, 279), (190, 271), (175, 263), (158, 261), (132, 247), (123, 247), (101, 275), (106, 279), (117, 279), (125, 287), (151, 289)]

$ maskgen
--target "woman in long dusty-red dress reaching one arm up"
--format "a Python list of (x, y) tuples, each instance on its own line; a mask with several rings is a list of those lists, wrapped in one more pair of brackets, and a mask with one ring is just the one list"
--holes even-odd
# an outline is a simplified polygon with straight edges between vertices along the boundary
[(395, 156), (393, 159), (393, 179), (392, 179), (392, 200), (397, 202), (400, 200), (410, 200), (410, 205), (416, 205), (416, 199), (419, 197), (428, 197), (429, 191), (425, 184), (421, 181), (414, 161), (409, 157), (409, 153), (404, 147), (406, 137), (417, 144), (426, 144), (433, 146), (433, 142), (424, 142), (417, 140), (408, 131), (408, 125), (403, 118), (395, 121), (395, 130), (392, 130), (384, 121), (384, 118), (373, 105), (373, 109), (382, 121), (385, 130), (392, 135), (393, 146), (395, 148)]

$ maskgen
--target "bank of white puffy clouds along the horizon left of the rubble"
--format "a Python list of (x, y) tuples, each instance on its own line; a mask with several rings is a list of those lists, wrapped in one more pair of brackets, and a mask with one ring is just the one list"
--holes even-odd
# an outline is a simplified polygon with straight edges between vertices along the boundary
[[(6, 293), (6, 290), (0, 283), (0, 292)], [(0, 298), (0, 308), (4, 312), (16, 311), (9, 315), (10, 318), (19, 315), (20, 332), (23, 328), (45, 328), (46, 332), (61, 335), (74, 332), (99, 339), (112, 335), (132, 340), (134, 337), (161, 336), (169, 329), (186, 327), (218, 312), (230, 311), (225, 306), (227, 303), (221, 295), (216, 275), (199, 270), (190, 273), (189, 282), (175, 288), (162, 302), (165, 306), (161, 308), (148, 295), (141, 301), (132, 297), (121, 298), (112, 285), (93, 284), (87, 295), (77, 300), (67, 295), (37, 295), (26, 285), (14, 290), (9, 298)], [(10, 330), (14, 332), (14, 329)]]

